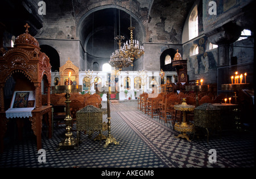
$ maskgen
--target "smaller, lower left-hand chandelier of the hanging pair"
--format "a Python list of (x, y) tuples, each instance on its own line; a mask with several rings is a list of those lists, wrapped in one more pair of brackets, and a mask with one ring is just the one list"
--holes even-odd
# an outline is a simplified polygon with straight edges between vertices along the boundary
[(119, 35), (114, 39), (118, 40), (119, 49), (116, 49), (115, 52), (112, 53), (112, 55), (110, 56), (109, 64), (112, 67), (118, 68), (119, 71), (121, 71), (123, 67), (128, 67), (133, 64), (133, 61), (131, 61), (130, 57), (123, 57), (122, 55), (121, 40), (125, 39), (125, 37)]

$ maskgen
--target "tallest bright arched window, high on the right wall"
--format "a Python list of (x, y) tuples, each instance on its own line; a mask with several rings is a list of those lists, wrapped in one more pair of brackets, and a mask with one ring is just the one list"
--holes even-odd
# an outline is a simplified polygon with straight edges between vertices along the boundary
[(189, 31), (189, 40), (198, 36), (198, 15), (197, 15), (197, 6), (194, 7), (188, 22), (188, 31)]

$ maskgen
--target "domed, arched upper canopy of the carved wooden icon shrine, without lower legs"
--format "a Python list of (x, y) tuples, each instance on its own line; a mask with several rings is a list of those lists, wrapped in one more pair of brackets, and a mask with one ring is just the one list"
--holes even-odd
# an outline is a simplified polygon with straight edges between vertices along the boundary
[[(8, 51), (0, 49), (0, 109), (5, 110), (5, 83), (14, 73), (23, 73), (35, 89), (35, 108), (42, 106), (42, 80), (47, 87), (48, 102), (50, 104), (51, 64), (48, 56), (40, 51), (38, 40), (28, 34), (28, 24), (24, 26), (26, 32), (19, 35), (14, 47)], [(20, 85), (20, 89), (25, 85)]]

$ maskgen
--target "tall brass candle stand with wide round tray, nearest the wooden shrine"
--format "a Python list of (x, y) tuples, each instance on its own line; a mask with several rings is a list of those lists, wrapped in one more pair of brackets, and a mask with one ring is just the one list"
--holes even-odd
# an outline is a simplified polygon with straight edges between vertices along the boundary
[(65, 103), (66, 103), (66, 116), (65, 116), (65, 139), (62, 140), (58, 147), (55, 149), (59, 151), (60, 149), (72, 149), (76, 147), (77, 140), (73, 138), (72, 134), (72, 122), (73, 119), (70, 115), (70, 93), (77, 93), (82, 91), (82, 85), (60, 85), (60, 86), (52, 86), (52, 93), (66, 93), (65, 94)]

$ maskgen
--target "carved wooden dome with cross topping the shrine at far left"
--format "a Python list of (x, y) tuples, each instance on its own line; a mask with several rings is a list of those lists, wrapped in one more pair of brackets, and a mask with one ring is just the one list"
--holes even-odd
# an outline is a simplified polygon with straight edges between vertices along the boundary
[(38, 40), (36, 40), (32, 35), (28, 34), (28, 24), (26, 24), (24, 27), (26, 27), (26, 33), (19, 35), (16, 37), (14, 41), (14, 47), (24, 46), (28, 45), (32, 48), (39, 48)]

